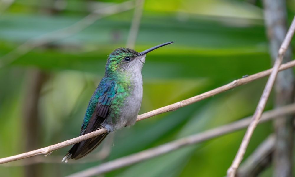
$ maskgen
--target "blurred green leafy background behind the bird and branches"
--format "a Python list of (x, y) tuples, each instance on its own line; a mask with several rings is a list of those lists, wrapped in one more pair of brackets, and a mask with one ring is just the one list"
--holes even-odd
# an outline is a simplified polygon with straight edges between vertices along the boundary
[[(0, 6), (7, 2), (0, 1)], [(6, 63), (6, 54), (28, 40), (68, 27), (92, 10), (121, 2), (16, 0), (0, 11), (0, 62)], [(294, 13), (294, 8), (288, 10)], [(117, 47), (125, 47), (132, 17), (130, 10), (99, 19), (81, 32), (33, 48), (0, 68), (1, 158), (24, 152), (28, 137), (23, 136), (23, 109), (30, 88), (29, 73), (36, 68), (48, 74), (39, 98), (42, 138), (37, 148), (79, 134), (89, 98), (104, 75), (107, 55)], [(175, 43), (149, 53), (146, 58), (140, 113), (271, 66), (260, 2), (146, 0), (135, 50), (168, 41)], [(65, 176), (251, 115), (265, 83), (266, 79), (260, 79), (118, 130), (105, 160), (93, 162), (87, 156), (85, 163), (62, 164), (69, 147), (53, 151), (42, 157), (42, 176)], [(271, 104), (269, 100), (268, 109)], [(257, 127), (246, 157), (270, 132), (271, 123)], [(181, 148), (105, 176), (224, 176), (244, 133), (241, 130)], [(55, 162), (49, 163), (48, 158)], [(24, 176), (27, 167), (18, 162), (0, 166), (1, 175)]]

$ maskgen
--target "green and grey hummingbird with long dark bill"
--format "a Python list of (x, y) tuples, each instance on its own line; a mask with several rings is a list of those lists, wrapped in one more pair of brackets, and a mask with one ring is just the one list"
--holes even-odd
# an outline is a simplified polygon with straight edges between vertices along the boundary
[(74, 144), (62, 162), (86, 156), (110, 132), (135, 124), (142, 100), (141, 70), (145, 56), (171, 43), (166, 42), (142, 52), (120, 47), (109, 54), (104, 77), (90, 98), (79, 136), (100, 128), (106, 128), (107, 132)]

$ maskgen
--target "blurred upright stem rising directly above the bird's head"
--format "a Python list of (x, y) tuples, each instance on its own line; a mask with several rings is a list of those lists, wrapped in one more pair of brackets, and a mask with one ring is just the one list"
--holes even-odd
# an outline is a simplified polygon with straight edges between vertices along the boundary
[(126, 47), (133, 49), (139, 29), (140, 19), (143, 10), (144, 0), (137, 0), (134, 9), (133, 19), (129, 30)]

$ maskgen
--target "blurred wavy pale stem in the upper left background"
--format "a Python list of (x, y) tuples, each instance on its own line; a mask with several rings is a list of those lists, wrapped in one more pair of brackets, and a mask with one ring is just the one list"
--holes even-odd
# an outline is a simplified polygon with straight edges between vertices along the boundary
[(72, 24), (71, 26), (65, 27), (63, 29), (59, 29), (47, 34), (44, 34), (39, 37), (34, 37), (27, 42), (21, 44), (19, 47), (9, 52), (8, 54), (2, 57), (2, 61), (0, 61), (0, 68), (4, 67), (7, 64), (12, 63), (18, 57), (30, 52), (32, 49), (38, 46), (42, 46), (44, 44), (48, 44), (50, 42), (54, 42), (60, 39), (64, 39), (66, 37), (70, 37), (78, 32), (81, 32), (83, 29), (86, 29), (91, 24), (93, 24), (96, 20), (117, 14), (120, 12), (128, 11), (133, 9), (135, 6), (134, 0), (125, 1), (119, 4), (115, 4), (109, 7), (105, 7), (102, 9), (98, 9), (91, 14), (87, 15), (80, 21)]

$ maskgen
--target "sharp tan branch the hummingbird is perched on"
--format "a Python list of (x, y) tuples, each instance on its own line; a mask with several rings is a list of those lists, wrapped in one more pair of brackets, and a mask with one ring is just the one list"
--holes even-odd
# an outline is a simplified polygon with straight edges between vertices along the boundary
[[(285, 69), (293, 67), (293, 66), (295, 66), (295, 60), (293, 60), (291, 62), (288, 62), (288, 63), (285, 63), (285, 64), (282, 64), (280, 66), (279, 70), (280, 71), (285, 70)], [(182, 100), (182, 101), (176, 102), (174, 104), (167, 105), (167, 106), (158, 108), (156, 110), (153, 110), (153, 111), (138, 115), (136, 121), (140, 121), (140, 120), (143, 120), (143, 119), (146, 119), (146, 118), (150, 118), (152, 116), (162, 114), (162, 113), (166, 113), (166, 112), (169, 112), (169, 111), (177, 110), (180, 107), (184, 107), (184, 106), (190, 105), (190, 104), (192, 104), (194, 102), (204, 100), (205, 98), (211, 97), (213, 95), (224, 92), (226, 90), (230, 90), (230, 89), (232, 89), (234, 87), (237, 87), (239, 85), (243, 85), (243, 84), (246, 84), (246, 83), (251, 82), (253, 80), (257, 80), (259, 78), (265, 77), (265, 76), (269, 75), (272, 72), (272, 70), (273, 69), (268, 69), (268, 70), (265, 70), (265, 71), (258, 72), (256, 74), (250, 75), (248, 77), (244, 77), (244, 78), (241, 78), (241, 79), (234, 80), (234, 81), (230, 82), (227, 85), (218, 87), (216, 89), (210, 90), (210, 91), (202, 93), (200, 95), (196, 95), (196, 96), (188, 98), (186, 100)], [(1, 158), (0, 159), (0, 164), (1, 163), (11, 162), (11, 161), (16, 161), (16, 160), (19, 160), (19, 159), (23, 159), (23, 158), (27, 158), (27, 157), (31, 157), (31, 156), (36, 156), (36, 155), (40, 155), (40, 154), (51, 153), (52, 150), (63, 148), (65, 146), (68, 146), (68, 145), (71, 145), (71, 144), (74, 144), (74, 143), (79, 143), (80, 141), (95, 137), (95, 136), (100, 135), (100, 134), (105, 133), (105, 132), (106, 132), (106, 129), (101, 128), (99, 130), (88, 133), (86, 135), (82, 135), (82, 136), (79, 136), (79, 137), (76, 137), (76, 138), (73, 138), (73, 139), (70, 139), (70, 140), (66, 140), (64, 142), (61, 142), (61, 143), (58, 143), (58, 144), (55, 144), (55, 145), (50, 145), (50, 146), (45, 147), (45, 148), (41, 148), (41, 149), (33, 150), (33, 151), (30, 151), (30, 152), (18, 154), (18, 155), (15, 155), (15, 156)]]

